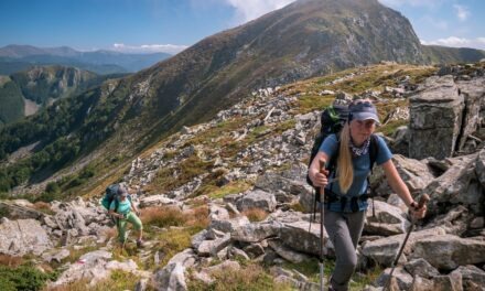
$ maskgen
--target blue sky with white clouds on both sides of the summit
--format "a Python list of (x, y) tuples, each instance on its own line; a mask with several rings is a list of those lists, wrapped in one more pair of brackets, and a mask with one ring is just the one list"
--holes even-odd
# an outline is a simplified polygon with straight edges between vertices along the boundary
[[(176, 53), (293, 1), (0, 0), (0, 46)], [(424, 44), (485, 50), (484, 0), (379, 2), (407, 17)]]

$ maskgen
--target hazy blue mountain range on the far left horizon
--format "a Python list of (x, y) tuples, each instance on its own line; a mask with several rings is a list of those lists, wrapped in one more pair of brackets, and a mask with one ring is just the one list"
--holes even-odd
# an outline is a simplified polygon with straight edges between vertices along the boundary
[(78, 52), (67, 46), (7, 45), (0, 47), (0, 75), (29, 69), (33, 65), (75, 66), (96, 74), (134, 73), (170, 56), (166, 53)]

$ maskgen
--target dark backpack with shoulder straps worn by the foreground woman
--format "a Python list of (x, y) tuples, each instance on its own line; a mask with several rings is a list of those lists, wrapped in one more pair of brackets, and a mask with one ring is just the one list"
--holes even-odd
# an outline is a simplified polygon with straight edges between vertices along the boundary
[[(320, 132), (315, 137), (315, 140), (313, 141), (313, 147), (312, 147), (312, 151), (310, 154), (310, 162), (309, 162), (309, 166), (308, 166), (309, 170), (310, 170), (310, 165), (312, 164), (313, 159), (319, 153), (320, 147), (322, 146), (325, 138), (327, 138), (331, 134), (336, 134), (337, 139), (338, 139), (338, 134), (340, 134), (342, 128), (344, 127), (345, 122), (347, 121), (347, 118), (348, 118), (348, 106), (346, 106), (346, 105), (328, 106), (322, 111), (322, 116), (320, 119), (321, 120), (321, 128), (320, 128)], [(338, 144), (337, 144), (337, 151), (330, 159), (328, 164), (327, 164), (328, 176), (332, 176), (332, 175), (335, 176), (338, 151), (340, 151), (340, 140), (338, 140)], [(369, 144), (369, 158), (370, 158), (369, 170), (370, 170), (370, 173), (373, 172), (373, 168), (374, 168), (374, 164), (377, 159), (377, 152), (378, 152), (377, 136), (371, 134), (370, 136), (370, 144)], [(313, 214), (315, 215), (316, 204), (320, 202), (320, 195), (317, 195), (319, 187), (313, 186), (312, 181), (310, 180), (308, 172), (306, 172), (306, 183), (309, 183), (309, 185), (311, 185), (314, 188), (315, 195), (314, 195), (314, 201), (313, 201), (313, 209), (314, 209)], [(370, 190), (370, 182), (369, 182), (369, 177), (367, 176), (367, 193), (366, 194), (368, 197), (373, 198), (373, 215), (375, 215), (374, 195), (369, 190)]]

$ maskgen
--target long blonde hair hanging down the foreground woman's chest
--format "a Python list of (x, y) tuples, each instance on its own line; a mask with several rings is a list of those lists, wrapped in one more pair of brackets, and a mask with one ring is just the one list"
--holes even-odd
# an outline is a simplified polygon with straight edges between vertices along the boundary
[(341, 142), (337, 157), (337, 176), (341, 192), (346, 194), (354, 181), (354, 168), (352, 165), (351, 148), (351, 128), (348, 122), (345, 122), (341, 131)]

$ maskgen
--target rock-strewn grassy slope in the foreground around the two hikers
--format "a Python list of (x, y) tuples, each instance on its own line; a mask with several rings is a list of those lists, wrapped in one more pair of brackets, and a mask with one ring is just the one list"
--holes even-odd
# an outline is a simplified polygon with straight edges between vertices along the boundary
[[(120, 256), (106, 212), (97, 198), (86, 197), (53, 202), (47, 214), (46, 205), (2, 204), (10, 219), (0, 224), (0, 252), (33, 254), (51, 266), (60, 261), (63, 271), (52, 288), (83, 278), (100, 284), (120, 270), (138, 278), (137, 290), (200, 290), (223, 288), (225, 282), (234, 287), (238, 276), (249, 276), (263, 263), (273, 278), (265, 288), (317, 290), (320, 225), (319, 219), (310, 224), (312, 188), (305, 183), (305, 163), (320, 123), (317, 108), (335, 98), (352, 98), (365, 83), (370, 87), (358, 96), (375, 100), (385, 120), (380, 130), (389, 146), (403, 153), (394, 162), (405, 183), (413, 196), (431, 196), (429, 214), (410, 236), (395, 271), (394, 290), (481, 290), (484, 82), (483, 64), (441, 71), (381, 65), (256, 90), (252, 98), (219, 111), (207, 123), (184, 128), (132, 161), (122, 180), (139, 188), (136, 201), (148, 239), (143, 250), (129, 242)], [(422, 107), (431, 109), (421, 111)], [(420, 127), (425, 118), (441, 123)], [(449, 123), (453, 126), (443, 126)], [(446, 134), (456, 138), (429, 142), (442, 137), (440, 131), (453, 130), (456, 133)], [(429, 143), (435, 147), (413, 151)], [(410, 154), (425, 157), (416, 160)], [(406, 206), (380, 171), (371, 183), (379, 197), (375, 215), (367, 214), (353, 290), (366, 283), (371, 283), (367, 290), (381, 290), (410, 225)], [(14, 239), (31, 241), (32, 233), (42, 239)], [(333, 246), (324, 237), (331, 265)], [(53, 249), (57, 244), (62, 247)], [(88, 271), (93, 269), (97, 271)], [(134, 288), (134, 282), (127, 285)]]

